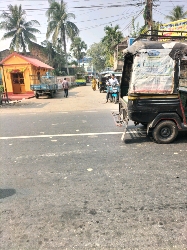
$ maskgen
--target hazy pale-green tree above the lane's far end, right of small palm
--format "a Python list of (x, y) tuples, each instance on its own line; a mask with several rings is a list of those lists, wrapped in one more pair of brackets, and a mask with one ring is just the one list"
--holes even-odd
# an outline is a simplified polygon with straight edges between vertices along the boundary
[(87, 51), (87, 56), (92, 58), (92, 64), (96, 71), (100, 72), (105, 69), (106, 54), (102, 42), (92, 44)]

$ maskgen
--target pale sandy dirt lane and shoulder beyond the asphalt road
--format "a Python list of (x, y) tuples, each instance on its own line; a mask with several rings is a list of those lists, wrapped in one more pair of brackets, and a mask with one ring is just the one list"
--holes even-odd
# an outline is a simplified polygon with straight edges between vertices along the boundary
[(54, 98), (40, 97), (25, 99), (12, 105), (3, 105), (1, 113), (15, 112), (65, 112), (81, 110), (118, 109), (114, 103), (106, 103), (106, 93), (93, 91), (91, 85), (74, 87), (69, 90), (68, 98), (59, 91)]

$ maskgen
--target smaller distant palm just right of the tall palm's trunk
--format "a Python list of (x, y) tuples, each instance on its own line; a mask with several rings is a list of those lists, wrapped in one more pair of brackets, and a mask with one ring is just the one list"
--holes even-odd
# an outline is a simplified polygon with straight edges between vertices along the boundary
[(80, 37), (75, 37), (70, 50), (73, 52), (73, 56), (79, 61), (86, 55), (83, 50), (87, 50), (87, 45)]

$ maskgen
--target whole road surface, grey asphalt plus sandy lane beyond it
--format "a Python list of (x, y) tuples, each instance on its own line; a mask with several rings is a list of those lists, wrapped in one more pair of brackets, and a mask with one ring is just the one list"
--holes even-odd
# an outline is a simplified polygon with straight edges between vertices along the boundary
[(0, 110), (0, 249), (187, 249), (187, 135), (124, 143), (117, 110), (90, 86)]

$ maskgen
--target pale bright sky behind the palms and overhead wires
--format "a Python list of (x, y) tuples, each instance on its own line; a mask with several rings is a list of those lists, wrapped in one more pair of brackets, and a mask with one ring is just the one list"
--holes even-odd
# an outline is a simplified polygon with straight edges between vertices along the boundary
[[(124, 37), (129, 35), (130, 23), (132, 17), (137, 17), (135, 24), (144, 24), (142, 14), (139, 15), (144, 8), (143, 0), (64, 0), (67, 3), (68, 12), (74, 13), (76, 18), (72, 20), (76, 23), (80, 30), (80, 37), (88, 47), (94, 42), (99, 42), (104, 36), (104, 27), (106, 25), (115, 26), (118, 24)], [(46, 8), (49, 7), (48, 0), (6, 0), (0, 1), (0, 13), (7, 10), (7, 5), (21, 4), (27, 13), (27, 21), (36, 19), (40, 22), (37, 27), (41, 34), (36, 34), (37, 43), (40, 44), (45, 40), (47, 30), (47, 18), (45, 16)], [(183, 5), (187, 11), (187, 1), (185, 0), (161, 0), (154, 1), (153, 20), (167, 23), (165, 16), (176, 5)], [(112, 7), (118, 5), (118, 7)], [(86, 8), (89, 7), (89, 8)], [(0, 19), (1, 21), (2, 19)], [(3, 31), (0, 33), (2, 38)], [(69, 42), (70, 43), (70, 42)], [(9, 48), (9, 40), (0, 40), (0, 51)]]

